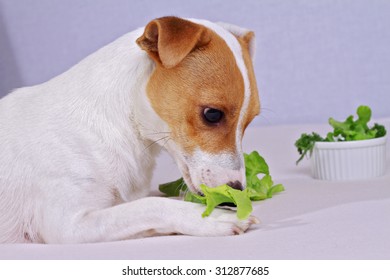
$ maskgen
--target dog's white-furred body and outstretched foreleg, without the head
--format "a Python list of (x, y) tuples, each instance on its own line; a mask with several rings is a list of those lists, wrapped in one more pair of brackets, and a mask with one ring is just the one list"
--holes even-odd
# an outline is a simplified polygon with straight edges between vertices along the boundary
[(218, 236), (254, 222), (221, 209), (202, 218), (201, 205), (142, 198), (160, 149), (153, 142), (168, 131), (146, 97), (154, 64), (135, 43), (142, 32), (0, 100), (0, 243)]

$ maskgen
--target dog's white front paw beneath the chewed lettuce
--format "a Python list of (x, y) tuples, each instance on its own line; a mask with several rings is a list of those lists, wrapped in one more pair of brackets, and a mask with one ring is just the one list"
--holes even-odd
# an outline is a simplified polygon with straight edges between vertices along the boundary
[(210, 216), (202, 218), (204, 206), (191, 206), (191, 213), (180, 223), (180, 233), (196, 236), (238, 235), (247, 231), (251, 225), (260, 223), (254, 216), (239, 220), (236, 212), (228, 209), (214, 209)]

